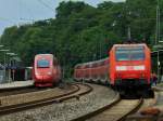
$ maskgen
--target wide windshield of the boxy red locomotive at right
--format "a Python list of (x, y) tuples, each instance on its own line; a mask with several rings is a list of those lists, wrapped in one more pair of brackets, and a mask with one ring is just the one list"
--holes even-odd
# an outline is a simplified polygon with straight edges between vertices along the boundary
[(116, 60), (143, 60), (143, 46), (118, 46), (115, 49)]

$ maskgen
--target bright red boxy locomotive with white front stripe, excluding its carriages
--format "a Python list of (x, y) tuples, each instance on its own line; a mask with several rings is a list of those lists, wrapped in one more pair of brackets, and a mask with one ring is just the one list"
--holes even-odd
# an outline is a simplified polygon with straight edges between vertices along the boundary
[(150, 89), (151, 52), (147, 44), (113, 45), (110, 71), (110, 83), (117, 90)]

